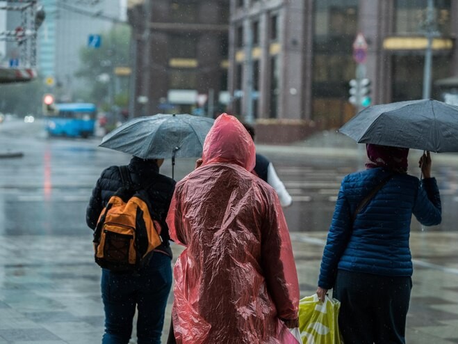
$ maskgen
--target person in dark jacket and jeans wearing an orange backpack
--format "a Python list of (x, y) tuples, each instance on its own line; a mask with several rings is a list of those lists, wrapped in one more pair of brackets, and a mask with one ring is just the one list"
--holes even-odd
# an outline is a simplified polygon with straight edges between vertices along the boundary
[[(175, 186), (172, 178), (159, 173), (162, 163), (163, 159), (132, 157), (126, 168), (111, 166), (105, 169), (92, 190), (86, 222), (95, 230), (95, 259), (104, 267), (101, 273), (105, 311), (103, 344), (129, 343), (136, 308), (138, 343), (161, 343), (165, 306), (172, 287), (172, 250), (165, 219)], [(127, 170), (124, 178), (123, 170)], [(135, 202), (131, 202), (132, 198), (129, 201), (129, 196), (124, 197), (129, 188), (133, 190), (132, 196), (141, 194), (142, 197)], [(126, 206), (122, 208), (124, 201)], [(143, 202), (147, 204), (147, 209)], [(131, 205), (135, 205), (133, 203), (138, 207), (132, 208)], [(147, 228), (147, 231), (156, 230), (161, 238), (160, 244), (154, 249), (149, 247), (152, 250), (147, 250), (150, 251), (147, 257), (138, 257), (136, 260), (139, 264), (133, 264), (132, 267), (113, 264), (113, 260), (123, 256), (122, 239), (127, 234), (118, 233), (116, 237), (114, 231), (110, 233), (114, 225), (106, 221), (115, 218), (110, 214), (111, 207), (117, 207), (120, 211), (136, 209), (136, 213), (132, 214), (136, 217), (134, 222), (140, 221), (140, 227)], [(149, 221), (148, 217), (152, 219)], [(135, 236), (133, 233), (129, 235)], [(141, 245), (148, 246), (149, 243), (138, 244)], [(132, 257), (133, 253), (129, 254)]]

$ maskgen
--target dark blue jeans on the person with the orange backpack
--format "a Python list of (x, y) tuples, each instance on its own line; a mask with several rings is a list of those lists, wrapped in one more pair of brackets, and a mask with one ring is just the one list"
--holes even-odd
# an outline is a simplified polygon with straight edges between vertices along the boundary
[(102, 344), (127, 344), (138, 307), (138, 344), (161, 344), (165, 306), (172, 287), (171, 258), (154, 252), (139, 274), (102, 269), (101, 295), (105, 310)]

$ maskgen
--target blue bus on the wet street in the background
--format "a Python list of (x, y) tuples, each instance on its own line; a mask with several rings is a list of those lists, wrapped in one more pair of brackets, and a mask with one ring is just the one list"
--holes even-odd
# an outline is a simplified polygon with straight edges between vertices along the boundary
[(54, 114), (47, 116), (46, 130), (50, 136), (87, 138), (94, 134), (97, 108), (90, 103), (60, 103)]

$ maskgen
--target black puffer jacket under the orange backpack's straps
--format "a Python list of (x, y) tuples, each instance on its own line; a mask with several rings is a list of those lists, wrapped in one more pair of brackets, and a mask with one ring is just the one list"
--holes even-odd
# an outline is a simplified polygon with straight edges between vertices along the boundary
[[(152, 212), (158, 217), (157, 220), (162, 228), (163, 244), (158, 249), (162, 251), (165, 249), (172, 256), (169, 244), (169, 229), (165, 223), (165, 218), (172, 200), (175, 181), (160, 174), (156, 162), (138, 157), (132, 157), (129, 163), (129, 171), (133, 184), (149, 185), (147, 192), (153, 208)], [(92, 190), (88, 208), (86, 209), (86, 223), (90, 228), (95, 229), (101, 211), (120, 187), (122, 187), (122, 179), (120, 169), (117, 166), (110, 166), (102, 171), (95, 188)]]

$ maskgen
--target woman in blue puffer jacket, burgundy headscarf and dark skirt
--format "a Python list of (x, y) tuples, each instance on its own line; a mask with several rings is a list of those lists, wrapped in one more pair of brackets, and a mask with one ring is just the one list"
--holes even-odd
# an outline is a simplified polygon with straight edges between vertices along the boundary
[[(441, 198), (431, 157), (420, 157), (423, 179), (407, 175), (409, 149), (366, 145), (367, 169), (346, 175), (338, 192), (322, 255), (317, 294), (341, 302), (345, 344), (405, 343), (413, 272), (412, 214), (425, 226), (441, 223)], [(364, 208), (361, 200), (388, 177)]]

